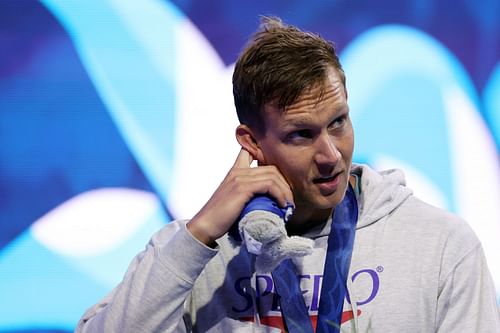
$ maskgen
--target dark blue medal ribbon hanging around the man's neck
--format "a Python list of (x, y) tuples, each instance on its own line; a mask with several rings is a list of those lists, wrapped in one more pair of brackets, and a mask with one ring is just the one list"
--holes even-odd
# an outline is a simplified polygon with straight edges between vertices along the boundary
[[(358, 220), (358, 204), (349, 185), (342, 202), (334, 210), (323, 272), (316, 333), (340, 332), (347, 274)], [(286, 329), (290, 333), (313, 333), (299, 280), (291, 259), (272, 272)]]

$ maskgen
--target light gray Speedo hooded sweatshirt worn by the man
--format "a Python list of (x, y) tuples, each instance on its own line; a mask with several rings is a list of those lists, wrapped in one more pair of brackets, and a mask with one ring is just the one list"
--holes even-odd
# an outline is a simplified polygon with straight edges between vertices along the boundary
[[(469, 226), (405, 187), (401, 171), (354, 165), (359, 220), (342, 332), (500, 332), (495, 289)], [(280, 332), (271, 275), (227, 237), (211, 249), (175, 221), (153, 235), (123, 281), (82, 317), (77, 332)], [(303, 235), (294, 259), (317, 319), (331, 219)]]

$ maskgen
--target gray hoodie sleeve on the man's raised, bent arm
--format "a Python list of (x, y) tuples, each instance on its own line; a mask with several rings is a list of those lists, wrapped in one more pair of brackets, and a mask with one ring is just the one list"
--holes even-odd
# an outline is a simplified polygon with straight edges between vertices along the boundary
[(196, 240), (186, 221), (168, 224), (134, 258), (123, 281), (87, 310), (75, 332), (186, 332), (184, 302), (217, 252)]

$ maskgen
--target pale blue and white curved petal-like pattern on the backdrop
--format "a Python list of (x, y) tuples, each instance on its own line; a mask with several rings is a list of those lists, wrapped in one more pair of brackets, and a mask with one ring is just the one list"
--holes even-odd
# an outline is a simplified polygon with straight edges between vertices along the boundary
[[(175, 216), (192, 216), (237, 153), (232, 66), (168, 2), (43, 3), (71, 36), (161, 200)], [(407, 168), (420, 197), (466, 218), (500, 290), (498, 152), (467, 73), (438, 41), (405, 26), (375, 27), (341, 56), (357, 131), (355, 160)], [(484, 96), (492, 119), (500, 114), (498, 68)], [(166, 222), (158, 198), (127, 189), (88, 192), (54, 208), (0, 252), (0, 330), (72, 330)], [(112, 236), (92, 238), (102, 230)], [(31, 287), (33, 276), (42, 290)], [(11, 307), (19, 295), (26, 295), (25, 306)]]

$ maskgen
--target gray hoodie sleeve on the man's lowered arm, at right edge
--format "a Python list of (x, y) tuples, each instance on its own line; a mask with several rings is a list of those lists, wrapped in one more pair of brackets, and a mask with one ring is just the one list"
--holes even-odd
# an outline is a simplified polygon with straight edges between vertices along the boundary
[(437, 332), (500, 332), (495, 288), (478, 243), (446, 275), (437, 303)]

